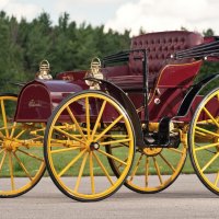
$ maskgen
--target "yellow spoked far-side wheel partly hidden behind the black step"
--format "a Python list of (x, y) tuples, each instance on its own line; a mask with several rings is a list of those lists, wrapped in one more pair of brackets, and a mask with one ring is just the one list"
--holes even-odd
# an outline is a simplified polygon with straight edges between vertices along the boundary
[[(169, 187), (181, 173), (185, 159), (186, 146), (175, 148), (137, 148), (135, 161), (125, 185), (137, 193), (158, 193)], [(114, 151), (108, 151), (114, 154)], [(120, 165), (110, 160), (116, 175)]]

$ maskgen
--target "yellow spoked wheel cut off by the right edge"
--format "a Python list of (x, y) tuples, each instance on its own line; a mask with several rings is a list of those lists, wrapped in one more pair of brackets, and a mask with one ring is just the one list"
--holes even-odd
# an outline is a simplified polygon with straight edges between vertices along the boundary
[(208, 93), (194, 114), (189, 153), (200, 181), (219, 195), (219, 89)]

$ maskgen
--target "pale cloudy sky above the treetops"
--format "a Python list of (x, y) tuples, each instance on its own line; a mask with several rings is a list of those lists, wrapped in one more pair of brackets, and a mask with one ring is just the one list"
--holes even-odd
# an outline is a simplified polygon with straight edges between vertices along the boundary
[(212, 28), (219, 35), (219, 0), (0, 0), (0, 11), (32, 21), (42, 12), (53, 24), (67, 12), (78, 24), (105, 25), (123, 33)]

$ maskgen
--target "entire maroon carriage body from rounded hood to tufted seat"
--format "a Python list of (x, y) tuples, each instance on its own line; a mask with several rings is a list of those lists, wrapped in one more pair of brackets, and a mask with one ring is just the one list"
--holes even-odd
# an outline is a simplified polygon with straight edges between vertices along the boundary
[[(186, 31), (150, 33), (132, 38), (131, 49), (147, 49), (150, 122), (157, 123), (162, 117), (174, 117), (177, 114), (203, 65), (203, 60), (194, 58), (175, 60), (171, 55), (203, 43), (205, 42), (200, 34)], [(138, 110), (143, 103), (143, 70), (142, 60), (136, 60), (135, 56), (141, 55), (135, 51), (130, 54), (127, 65), (105, 67), (102, 68), (102, 72), (104, 80), (124, 90)], [(85, 70), (66, 71), (57, 76), (58, 80), (35, 80), (26, 84), (19, 96), (15, 120), (46, 122), (62, 99), (70, 93), (89, 89), (83, 80), (85, 73)], [(181, 118), (182, 122), (191, 120), (194, 108), (200, 100), (201, 96), (196, 96), (187, 116)], [(80, 111), (80, 107), (76, 108), (74, 113), (81, 115), (79, 117), (83, 120), (83, 111)], [(141, 122), (145, 119), (143, 112), (139, 112)], [(97, 110), (94, 106), (93, 115), (95, 119)], [(104, 119), (111, 122), (112, 116), (106, 113)]]

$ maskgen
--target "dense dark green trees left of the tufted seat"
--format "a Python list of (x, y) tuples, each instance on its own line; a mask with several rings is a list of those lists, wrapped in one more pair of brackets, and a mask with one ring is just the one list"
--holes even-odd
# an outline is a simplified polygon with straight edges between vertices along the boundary
[[(0, 92), (18, 90), (13, 82), (33, 80), (41, 60), (50, 62), (51, 73), (90, 68), (94, 56), (103, 57), (129, 48), (129, 32), (119, 34), (104, 26), (69, 22), (64, 13), (58, 25), (51, 25), (43, 12), (32, 22), (20, 22), (0, 11)], [(11, 83), (12, 82), (12, 83)]]

